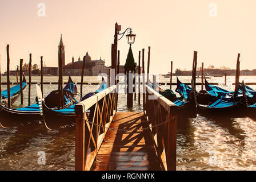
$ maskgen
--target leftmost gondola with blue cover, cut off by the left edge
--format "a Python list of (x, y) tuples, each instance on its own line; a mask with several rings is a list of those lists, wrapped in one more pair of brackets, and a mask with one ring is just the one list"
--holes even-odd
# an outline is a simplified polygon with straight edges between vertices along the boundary
[[(22, 90), (24, 90), (27, 86), (27, 81), (25, 76), (23, 76), (22, 80)], [(14, 102), (18, 99), (19, 95), (21, 93), (21, 85), (15, 85), (10, 88), (10, 100), (11, 100), (11, 105), (14, 104)], [(1, 98), (1, 104), (3, 106), (7, 106), (8, 104), (8, 92), (7, 90), (3, 90), (2, 93), (2, 98)]]

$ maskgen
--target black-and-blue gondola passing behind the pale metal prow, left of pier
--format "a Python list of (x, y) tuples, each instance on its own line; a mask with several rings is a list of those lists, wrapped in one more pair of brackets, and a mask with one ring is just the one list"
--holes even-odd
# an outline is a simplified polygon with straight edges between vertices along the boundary
[[(74, 94), (77, 94), (77, 86), (69, 76), (69, 81), (63, 88), (64, 93), (64, 108), (73, 105)], [(37, 98), (36, 98), (37, 100)], [(52, 109), (57, 109), (59, 106), (59, 93), (58, 90), (54, 90), (46, 97), (46, 105)], [(40, 115), (41, 109), (37, 101), (36, 104), (21, 107), (21, 108), (8, 108), (0, 104), (0, 122), (3, 126), (13, 126), (15, 123), (40, 121), (42, 119)]]

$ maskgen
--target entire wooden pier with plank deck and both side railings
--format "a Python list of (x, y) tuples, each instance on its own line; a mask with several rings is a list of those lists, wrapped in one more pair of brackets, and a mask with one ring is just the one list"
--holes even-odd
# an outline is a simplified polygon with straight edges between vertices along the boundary
[(75, 170), (176, 169), (177, 105), (145, 87), (143, 113), (117, 112), (116, 85), (75, 106)]

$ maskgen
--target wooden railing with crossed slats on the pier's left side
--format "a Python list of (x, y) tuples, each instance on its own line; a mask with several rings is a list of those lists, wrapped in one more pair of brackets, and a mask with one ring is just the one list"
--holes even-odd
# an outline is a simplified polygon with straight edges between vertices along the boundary
[(90, 170), (116, 110), (116, 85), (75, 105), (76, 171)]

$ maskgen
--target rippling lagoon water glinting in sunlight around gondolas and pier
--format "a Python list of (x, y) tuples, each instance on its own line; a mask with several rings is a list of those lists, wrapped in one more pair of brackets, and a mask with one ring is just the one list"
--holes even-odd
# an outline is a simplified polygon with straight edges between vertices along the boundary
[[(79, 82), (80, 77), (72, 77)], [(179, 77), (190, 82), (191, 77)], [(39, 77), (32, 77), (39, 82)], [(85, 77), (86, 82), (97, 82), (96, 77)], [(2, 78), (4, 81), (4, 77)], [(27, 79), (28, 80), (28, 79)], [(175, 77), (173, 78), (175, 82)], [(209, 82), (224, 83), (224, 77), (211, 77)], [(234, 77), (227, 77), (227, 85), (219, 85), (234, 90)], [(256, 77), (241, 77), (245, 82), (256, 82)], [(44, 81), (58, 81), (57, 77), (45, 77)], [(64, 77), (67, 81), (67, 77)], [(197, 79), (201, 81), (201, 79)], [(11, 77), (15, 82), (15, 77)], [(169, 82), (169, 78), (160, 78)], [(5, 89), (6, 85), (2, 88)], [(44, 95), (57, 89), (58, 85), (44, 85)], [(162, 85), (163, 89), (169, 86)], [(251, 85), (256, 89), (256, 85)], [(94, 92), (97, 85), (83, 85), (83, 93)], [(175, 89), (175, 86), (173, 86)], [(201, 86), (197, 86), (200, 90)], [(80, 90), (78, 85), (78, 90)], [(35, 86), (31, 88), (31, 104), (34, 104)], [(20, 101), (14, 107), (19, 107)], [(141, 101), (142, 103), (142, 101)], [(24, 92), (24, 106), (27, 105), (27, 89)], [(138, 101), (133, 109), (126, 107), (126, 95), (119, 94), (119, 111), (142, 111)], [(218, 118), (218, 117), (216, 117)], [(17, 118), (18, 119), (18, 118)], [(256, 122), (251, 118), (197, 118), (178, 123), (177, 169), (178, 170), (255, 170), (256, 169)], [(74, 170), (75, 150), (74, 125), (63, 126), (49, 131), (44, 125), (15, 126), (0, 128), (0, 170)], [(38, 164), (38, 152), (46, 154), (46, 164)]]

